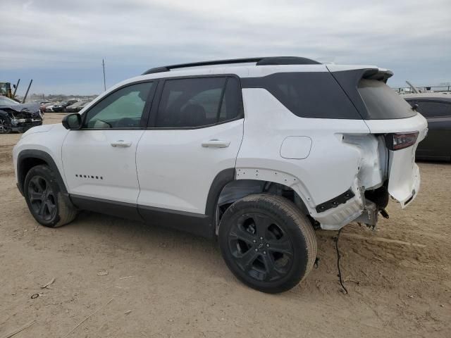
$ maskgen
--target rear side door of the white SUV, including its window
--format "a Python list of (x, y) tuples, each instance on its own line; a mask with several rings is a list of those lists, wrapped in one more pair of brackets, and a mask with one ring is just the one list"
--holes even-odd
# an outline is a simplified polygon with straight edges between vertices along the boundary
[(140, 213), (150, 221), (158, 211), (202, 218), (214, 180), (233, 177), (244, 120), (239, 79), (167, 79), (158, 92), (137, 146)]

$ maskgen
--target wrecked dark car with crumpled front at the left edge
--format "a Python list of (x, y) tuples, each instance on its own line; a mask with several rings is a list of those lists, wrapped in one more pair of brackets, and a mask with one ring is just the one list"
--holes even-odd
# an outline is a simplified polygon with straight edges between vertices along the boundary
[(0, 96), (0, 134), (25, 132), (31, 127), (42, 125), (39, 104), (19, 104)]

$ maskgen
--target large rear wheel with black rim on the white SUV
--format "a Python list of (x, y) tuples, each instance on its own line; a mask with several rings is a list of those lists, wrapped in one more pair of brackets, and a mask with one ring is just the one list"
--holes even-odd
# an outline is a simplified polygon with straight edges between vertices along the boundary
[(228, 268), (261, 292), (295, 287), (316, 259), (311, 223), (282, 196), (254, 194), (236, 201), (224, 213), (218, 235)]

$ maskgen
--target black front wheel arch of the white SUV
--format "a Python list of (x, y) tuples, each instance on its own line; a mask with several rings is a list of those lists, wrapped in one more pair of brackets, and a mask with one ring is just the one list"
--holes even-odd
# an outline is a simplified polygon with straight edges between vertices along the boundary
[(66, 184), (64, 184), (63, 177), (58, 170), (54, 159), (45, 151), (37, 149), (25, 149), (20, 151), (17, 157), (17, 180), (18, 189), (23, 194), (23, 185), (25, 183), (25, 177), (28, 171), (36, 165), (48, 165), (49, 168), (55, 173), (56, 180), (63, 194), (67, 194)]

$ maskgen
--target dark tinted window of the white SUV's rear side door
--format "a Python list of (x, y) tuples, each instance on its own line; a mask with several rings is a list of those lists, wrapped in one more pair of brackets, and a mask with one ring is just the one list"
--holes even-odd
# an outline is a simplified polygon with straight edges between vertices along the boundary
[(238, 82), (233, 77), (166, 80), (156, 127), (201, 127), (240, 114)]

